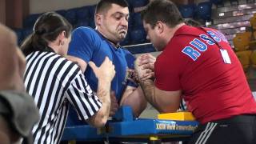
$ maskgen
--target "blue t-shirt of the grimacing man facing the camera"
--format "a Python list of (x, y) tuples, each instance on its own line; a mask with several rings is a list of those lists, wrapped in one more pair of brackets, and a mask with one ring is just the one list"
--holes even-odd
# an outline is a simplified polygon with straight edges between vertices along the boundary
[[(115, 66), (115, 76), (111, 82), (111, 90), (114, 90), (116, 98), (120, 101), (126, 86), (136, 86), (126, 80), (126, 69), (134, 69), (134, 56), (128, 50), (115, 48), (106, 38), (99, 34), (97, 30), (89, 27), (78, 27), (72, 33), (72, 40), (68, 55), (82, 58), (85, 62), (94, 62), (100, 66), (107, 57)], [(87, 82), (91, 89), (97, 91), (98, 79), (93, 70), (87, 66), (85, 71)]]

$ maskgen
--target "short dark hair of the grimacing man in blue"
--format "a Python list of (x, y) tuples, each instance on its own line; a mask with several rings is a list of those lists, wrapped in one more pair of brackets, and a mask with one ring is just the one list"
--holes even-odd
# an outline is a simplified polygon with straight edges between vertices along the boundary
[(96, 6), (95, 14), (98, 14), (104, 10), (110, 10), (111, 4), (128, 7), (128, 2), (126, 2), (126, 0), (101, 0)]

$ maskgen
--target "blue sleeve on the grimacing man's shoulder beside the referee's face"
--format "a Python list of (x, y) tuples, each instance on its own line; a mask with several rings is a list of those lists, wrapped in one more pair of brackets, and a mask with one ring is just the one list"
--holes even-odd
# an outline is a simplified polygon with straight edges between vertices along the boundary
[(94, 30), (87, 27), (79, 27), (72, 33), (68, 55), (83, 59), (90, 62), (93, 51), (97, 47), (94, 46)]

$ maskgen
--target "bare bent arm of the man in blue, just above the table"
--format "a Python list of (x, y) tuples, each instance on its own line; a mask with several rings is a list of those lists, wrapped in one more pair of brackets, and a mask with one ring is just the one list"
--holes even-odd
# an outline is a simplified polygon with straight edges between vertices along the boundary
[(146, 104), (147, 102), (140, 86), (138, 88), (133, 86), (126, 87), (124, 94), (122, 94), (121, 106), (131, 106), (134, 116), (138, 117), (146, 109)]

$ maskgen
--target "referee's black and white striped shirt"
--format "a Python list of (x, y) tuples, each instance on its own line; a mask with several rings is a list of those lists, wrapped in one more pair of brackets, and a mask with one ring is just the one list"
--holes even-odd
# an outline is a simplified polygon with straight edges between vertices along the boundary
[(26, 91), (34, 97), (41, 118), (33, 128), (34, 143), (58, 144), (69, 110), (69, 102), (82, 120), (102, 106), (73, 62), (52, 52), (34, 52), (26, 57)]

